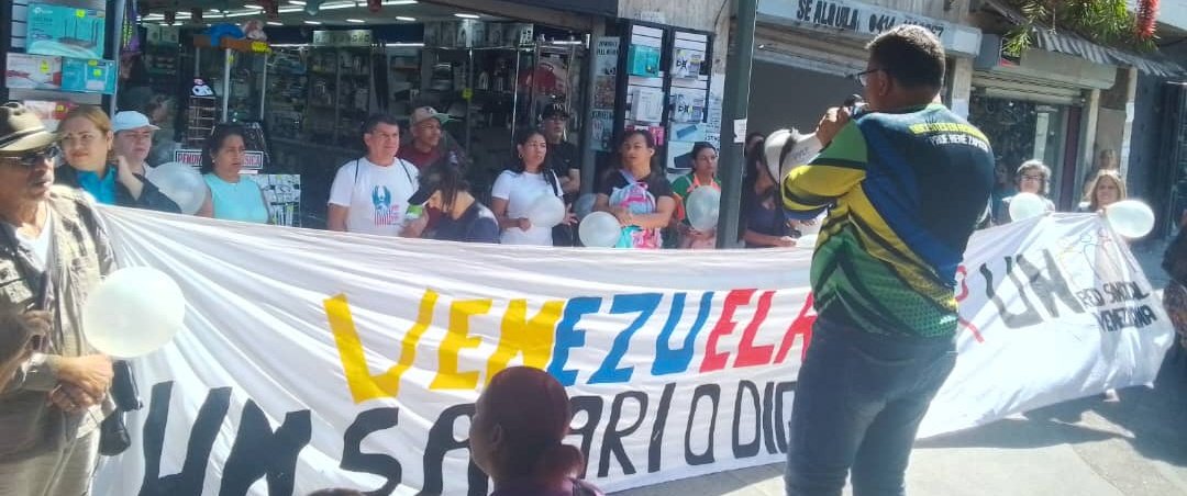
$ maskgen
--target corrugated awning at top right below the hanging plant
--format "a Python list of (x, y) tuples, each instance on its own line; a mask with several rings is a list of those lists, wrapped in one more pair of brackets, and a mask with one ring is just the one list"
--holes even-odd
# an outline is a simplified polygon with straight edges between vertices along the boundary
[[(985, 0), (985, 5), (992, 7), (1011, 22), (1022, 24), (1026, 18), (1014, 7), (1003, 0)], [(1187, 73), (1187, 70), (1175, 62), (1166, 58), (1159, 52), (1138, 54), (1128, 50), (1102, 46), (1081, 38), (1071, 31), (1056, 31), (1055, 28), (1041, 27), (1035, 30), (1036, 47), (1049, 52), (1075, 56), (1097, 64), (1124, 65), (1137, 67), (1143, 73), (1159, 77), (1179, 77)]]

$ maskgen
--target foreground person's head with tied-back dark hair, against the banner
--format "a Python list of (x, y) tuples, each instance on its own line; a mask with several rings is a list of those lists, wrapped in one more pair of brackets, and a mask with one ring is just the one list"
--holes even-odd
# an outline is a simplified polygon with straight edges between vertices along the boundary
[(582, 451), (565, 444), (569, 394), (548, 373), (510, 367), (474, 404), (470, 457), (495, 482), (491, 496), (597, 496), (579, 481)]

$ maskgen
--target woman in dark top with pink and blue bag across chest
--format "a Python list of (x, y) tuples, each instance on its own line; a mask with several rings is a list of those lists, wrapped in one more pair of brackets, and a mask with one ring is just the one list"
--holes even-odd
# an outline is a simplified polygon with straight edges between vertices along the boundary
[(617, 170), (611, 172), (598, 191), (594, 210), (618, 218), (622, 234), (617, 247), (659, 249), (660, 231), (675, 212), (675, 195), (664, 173), (655, 167), (655, 139), (645, 129), (634, 129), (618, 144)]

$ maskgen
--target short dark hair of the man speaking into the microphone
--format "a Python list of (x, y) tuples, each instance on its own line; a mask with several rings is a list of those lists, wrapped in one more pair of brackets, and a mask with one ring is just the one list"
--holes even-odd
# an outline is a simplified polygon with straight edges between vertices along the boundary
[(895, 26), (874, 38), (867, 50), (878, 69), (906, 88), (944, 86), (944, 45), (926, 27)]

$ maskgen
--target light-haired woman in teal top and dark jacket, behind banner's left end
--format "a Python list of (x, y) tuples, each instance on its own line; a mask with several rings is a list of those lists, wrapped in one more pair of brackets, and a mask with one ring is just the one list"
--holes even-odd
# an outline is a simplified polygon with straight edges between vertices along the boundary
[[(148, 125), (145, 118), (142, 127)], [(152, 130), (147, 130), (147, 141), (138, 148), (137, 143), (125, 143), (134, 141), (132, 134), (140, 130), (120, 129), (120, 154), (113, 157), (116, 137), (112, 129), (112, 120), (99, 107), (71, 109), (58, 127), (68, 167), (58, 169), (57, 182), (82, 188), (100, 204), (180, 213), (182, 208), (173, 200), (145, 179), (144, 161), (148, 156)]]

